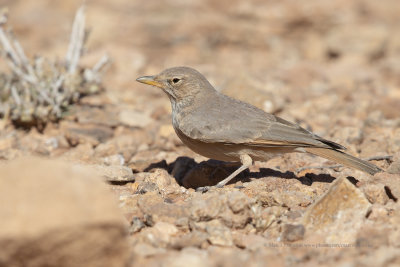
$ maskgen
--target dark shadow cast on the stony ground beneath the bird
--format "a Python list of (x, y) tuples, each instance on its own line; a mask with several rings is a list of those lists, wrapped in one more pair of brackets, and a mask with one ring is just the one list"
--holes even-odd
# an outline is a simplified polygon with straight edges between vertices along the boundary
[[(200, 186), (212, 186), (226, 178), (235, 171), (240, 164), (232, 164), (217, 160), (207, 160), (196, 163), (193, 158), (178, 157), (174, 162), (167, 164), (165, 160), (151, 163), (144, 169), (145, 172), (151, 172), (153, 169), (165, 169), (171, 174), (179, 185), (185, 188), (197, 188)], [(258, 172), (246, 170), (232, 179), (229, 183), (250, 182), (252, 179), (266, 177), (277, 177), (282, 179), (296, 179), (303, 185), (311, 186), (314, 182), (332, 183), (336, 178), (329, 174), (306, 173), (303, 176), (297, 176), (292, 171), (281, 171), (271, 168), (260, 168)]]

